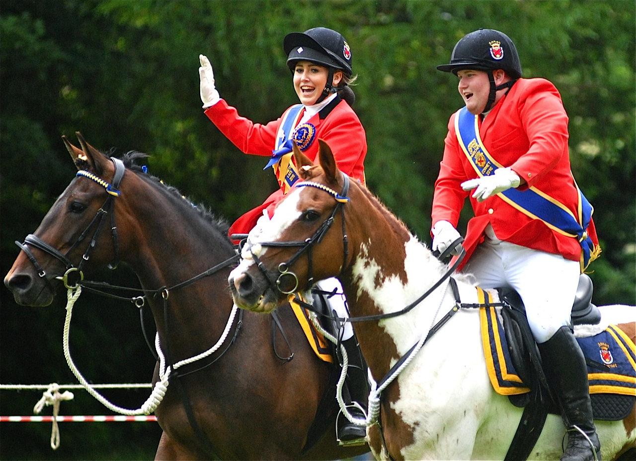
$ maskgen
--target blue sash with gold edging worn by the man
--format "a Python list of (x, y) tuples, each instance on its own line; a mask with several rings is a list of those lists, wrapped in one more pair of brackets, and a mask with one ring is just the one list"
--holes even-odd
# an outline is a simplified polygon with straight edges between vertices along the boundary
[[(503, 166), (497, 163), (481, 142), (478, 123), (479, 117), (473, 116), (466, 107), (462, 107), (455, 116), (455, 133), (457, 133), (459, 145), (471, 161), (474, 170), (483, 177), (492, 175), (497, 168), (503, 168)], [(465, 140), (469, 142), (466, 143)], [(582, 270), (584, 270), (591, 261), (597, 258), (600, 247), (595, 246), (586, 232), (594, 209), (576, 182), (574, 185), (579, 195), (576, 217), (567, 206), (536, 187), (530, 187), (527, 190), (511, 188), (500, 192), (497, 196), (530, 218), (543, 221), (553, 231), (576, 238), (581, 244)]]

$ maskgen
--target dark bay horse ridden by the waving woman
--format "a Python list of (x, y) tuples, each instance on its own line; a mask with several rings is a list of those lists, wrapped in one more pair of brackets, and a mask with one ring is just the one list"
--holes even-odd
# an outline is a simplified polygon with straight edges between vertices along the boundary
[[(81, 149), (64, 138), (78, 177), (27, 237), (4, 283), (18, 304), (45, 306), (61, 286), (55, 276), (69, 266), (90, 271), (126, 262), (141, 281), (169, 364), (206, 351), (221, 337), (233, 307), (227, 261), (236, 253), (226, 226), (135, 166), (145, 155), (111, 159), (78, 138)], [(183, 284), (217, 265), (220, 270)], [(368, 451), (338, 446), (333, 412), (303, 451), (331, 365), (315, 356), (291, 309), (279, 318), (291, 361), (283, 363), (273, 351), (272, 317), (245, 312), (218, 352), (170, 378), (155, 411), (163, 429), (156, 459), (336, 459)]]

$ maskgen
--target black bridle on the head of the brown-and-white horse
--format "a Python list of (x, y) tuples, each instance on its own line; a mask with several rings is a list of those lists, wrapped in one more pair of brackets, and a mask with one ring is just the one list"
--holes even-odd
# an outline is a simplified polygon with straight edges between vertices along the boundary
[[(333, 211), (331, 211), (331, 215), (329, 216), (329, 218), (327, 218), (324, 222), (322, 222), (320, 227), (314, 232), (314, 235), (312, 235), (311, 237), (309, 237), (308, 239), (304, 241), (258, 242), (258, 244), (261, 246), (278, 246), (278, 247), (299, 246), (300, 247), (300, 249), (296, 251), (296, 253), (291, 258), (289, 258), (287, 262), (282, 262), (279, 264), (278, 266), (279, 276), (275, 281), (272, 279), (272, 277), (270, 277), (270, 274), (267, 272), (267, 269), (265, 268), (265, 265), (263, 264), (263, 262), (261, 262), (261, 260), (259, 260), (259, 258), (256, 255), (254, 255), (252, 251), (250, 251), (252, 253), (252, 257), (254, 258), (254, 262), (256, 262), (256, 265), (258, 265), (258, 268), (260, 269), (260, 271), (263, 272), (266, 279), (270, 283), (270, 287), (273, 290), (280, 291), (280, 293), (283, 293), (285, 295), (289, 295), (296, 291), (296, 289), (298, 288), (298, 276), (296, 276), (294, 272), (289, 271), (289, 268), (305, 252), (307, 252), (307, 260), (308, 260), (307, 284), (308, 286), (312, 286), (314, 284), (314, 276), (312, 275), (312, 247), (315, 244), (321, 243), (323, 237), (325, 236), (327, 231), (329, 231), (329, 228), (331, 227), (331, 225), (333, 225), (333, 222), (335, 220), (336, 213), (338, 213), (338, 210), (340, 210), (342, 213), (342, 244), (343, 244), (342, 269), (340, 273), (342, 274), (342, 272), (345, 271), (345, 267), (347, 267), (347, 257), (349, 256), (349, 239), (347, 239), (347, 233), (345, 232), (345, 208), (343, 207), (343, 205), (349, 201), (349, 197), (347, 197), (347, 194), (349, 193), (349, 176), (345, 175), (345, 173), (342, 173), (342, 176), (343, 176), (344, 184), (342, 186), (342, 192), (340, 192), (340, 194), (338, 194), (338, 192), (336, 192), (335, 190), (330, 189), (326, 185), (319, 184), (317, 182), (303, 181), (294, 185), (294, 187), (315, 187), (316, 189), (324, 190), (325, 192), (327, 192), (329, 195), (333, 196), (336, 199), (336, 206), (333, 208)], [(294, 288), (292, 288), (291, 290), (285, 290), (284, 288), (281, 288), (282, 280), (284, 280), (284, 277), (291, 277)]]

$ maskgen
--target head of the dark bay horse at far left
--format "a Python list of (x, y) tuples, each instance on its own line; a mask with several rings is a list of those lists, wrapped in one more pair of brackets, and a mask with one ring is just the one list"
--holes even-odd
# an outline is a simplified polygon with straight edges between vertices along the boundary
[[(18, 246), (23, 251), (4, 277), (4, 284), (20, 305), (51, 304), (55, 279), (72, 285), (82, 270), (116, 262), (118, 241), (114, 225), (117, 188), (124, 166), (109, 159), (76, 133), (81, 149), (62, 137), (73, 163), (76, 178), (46, 213), (38, 229)], [(110, 215), (110, 216), (107, 216)], [(115, 228), (99, 232), (102, 227)]]

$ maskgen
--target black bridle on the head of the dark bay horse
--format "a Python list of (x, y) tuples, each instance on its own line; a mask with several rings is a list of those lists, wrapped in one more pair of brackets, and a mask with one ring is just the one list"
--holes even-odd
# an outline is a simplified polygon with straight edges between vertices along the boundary
[[(29, 250), (29, 247), (27, 245), (31, 245), (31, 246), (34, 246), (35, 248), (38, 248), (39, 250), (45, 251), (45, 253), (52, 255), (53, 257), (60, 260), (62, 264), (66, 265), (66, 272), (64, 273), (64, 276), (56, 277), (56, 278), (61, 279), (64, 282), (64, 286), (66, 286), (66, 288), (76, 288), (79, 282), (83, 280), (84, 278), (84, 275), (81, 272), (81, 268), (83, 264), (86, 261), (88, 261), (89, 253), (92, 250), (92, 248), (95, 246), (97, 235), (99, 234), (99, 231), (102, 228), (102, 225), (104, 224), (104, 217), (106, 217), (108, 213), (111, 213), (111, 232), (113, 234), (113, 248), (115, 253), (114, 262), (112, 264), (109, 264), (109, 267), (114, 269), (114, 267), (117, 266), (117, 262), (119, 260), (119, 243), (117, 239), (117, 227), (115, 226), (114, 197), (119, 197), (121, 194), (121, 192), (118, 190), (118, 187), (120, 185), (121, 178), (123, 178), (123, 174), (126, 168), (120, 159), (111, 157), (111, 160), (113, 161), (115, 166), (115, 173), (113, 176), (112, 185), (104, 181), (102, 178), (97, 177), (96, 175), (93, 175), (93, 173), (90, 173), (90, 171), (79, 170), (76, 175), (76, 176), (86, 177), (90, 180), (95, 181), (100, 186), (104, 187), (104, 189), (106, 189), (106, 192), (108, 193), (108, 197), (106, 198), (106, 201), (104, 202), (102, 207), (99, 210), (97, 210), (97, 215), (95, 215), (95, 217), (90, 222), (90, 224), (88, 224), (84, 232), (80, 234), (80, 236), (75, 241), (75, 243), (71, 246), (71, 248), (69, 248), (69, 251), (66, 252), (66, 255), (60, 253), (60, 251), (56, 250), (50, 244), (46, 243), (39, 237), (34, 236), (33, 234), (29, 234), (28, 236), (26, 236), (24, 239), (24, 243), (15, 241), (15, 244), (17, 244), (17, 246), (19, 246), (22, 249), (22, 251), (24, 251), (24, 253), (27, 255), (31, 263), (35, 266), (36, 271), (38, 271), (38, 276), (44, 279), (44, 281), (46, 282), (46, 284), (52, 291), (54, 291), (54, 287), (52, 283), (50, 282), (50, 280), (46, 278), (45, 270), (38, 263), (38, 260), (36, 259), (36, 257), (34, 257), (33, 253), (31, 252), (31, 250)], [(86, 251), (84, 255), (82, 256), (81, 261), (78, 264), (78, 267), (75, 267), (73, 265), (73, 262), (69, 260), (68, 255), (71, 254), (71, 251), (73, 251), (86, 238), (86, 236), (88, 235), (88, 232), (93, 227), (93, 225), (96, 225), (96, 227), (95, 227), (95, 232), (93, 233), (92, 240), (90, 244), (88, 244), (88, 246), (86, 247)], [(72, 281), (70, 282), (70, 284), (69, 284), (69, 276), (71, 276), (72, 278)]]

